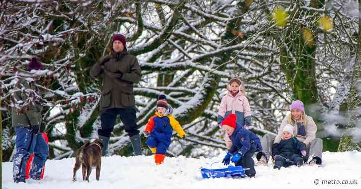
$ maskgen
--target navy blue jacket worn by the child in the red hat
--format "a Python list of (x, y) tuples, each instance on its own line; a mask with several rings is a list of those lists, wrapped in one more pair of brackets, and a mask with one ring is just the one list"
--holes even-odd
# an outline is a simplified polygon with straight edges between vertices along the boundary
[(252, 151), (262, 151), (261, 141), (252, 131), (237, 126), (233, 134), (230, 136), (232, 147), (229, 150), (231, 154), (240, 152), (242, 155)]

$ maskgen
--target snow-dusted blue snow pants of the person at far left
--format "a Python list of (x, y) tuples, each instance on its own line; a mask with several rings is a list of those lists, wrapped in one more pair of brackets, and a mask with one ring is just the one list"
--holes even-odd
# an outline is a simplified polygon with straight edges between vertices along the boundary
[(29, 177), (40, 180), (42, 168), (48, 158), (49, 148), (42, 134), (32, 134), (29, 127), (14, 127), (16, 153), (13, 159), (12, 175), (15, 183), (25, 182), (25, 168), (29, 157), (34, 153)]

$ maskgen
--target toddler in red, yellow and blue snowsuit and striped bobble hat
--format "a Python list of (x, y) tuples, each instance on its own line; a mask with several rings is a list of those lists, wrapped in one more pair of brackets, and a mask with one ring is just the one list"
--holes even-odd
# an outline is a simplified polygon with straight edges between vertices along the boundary
[(162, 164), (165, 152), (170, 145), (173, 129), (181, 138), (185, 132), (179, 122), (169, 114), (169, 107), (165, 95), (159, 95), (155, 115), (152, 116), (144, 130), (144, 136), (149, 138), (145, 142), (154, 155), (157, 165)]

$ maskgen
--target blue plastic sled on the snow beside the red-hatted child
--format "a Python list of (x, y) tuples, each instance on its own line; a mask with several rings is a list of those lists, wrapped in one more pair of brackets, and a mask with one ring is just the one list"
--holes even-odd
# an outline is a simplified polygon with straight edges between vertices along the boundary
[(228, 168), (224, 169), (206, 169), (201, 168), (201, 174), (203, 179), (208, 178), (222, 178), (222, 177), (231, 177), (231, 178), (237, 178), (237, 177), (246, 177), (244, 174), (245, 170), (242, 168), (242, 166), (228, 166)]

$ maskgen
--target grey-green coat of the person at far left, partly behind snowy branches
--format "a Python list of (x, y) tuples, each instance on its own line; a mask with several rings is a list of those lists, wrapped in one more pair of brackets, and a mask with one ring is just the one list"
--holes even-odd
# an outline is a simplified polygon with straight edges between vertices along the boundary
[[(16, 84), (16, 87), (20, 90), (31, 89), (37, 94), (39, 94), (40, 91), (35, 85), (32, 85), (25, 79), (20, 79), (19, 82)], [(13, 97), (15, 99), (15, 104), (17, 108), (12, 108), (12, 126), (40, 126), (41, 111), (43, 109), (42, 105), (38, 101), (34, 100), (32, 102), (29, 102), (28, 106), (23, 107), (22, 102), (25, 102), (28, 97), (21, 91), (16, 91)]]

